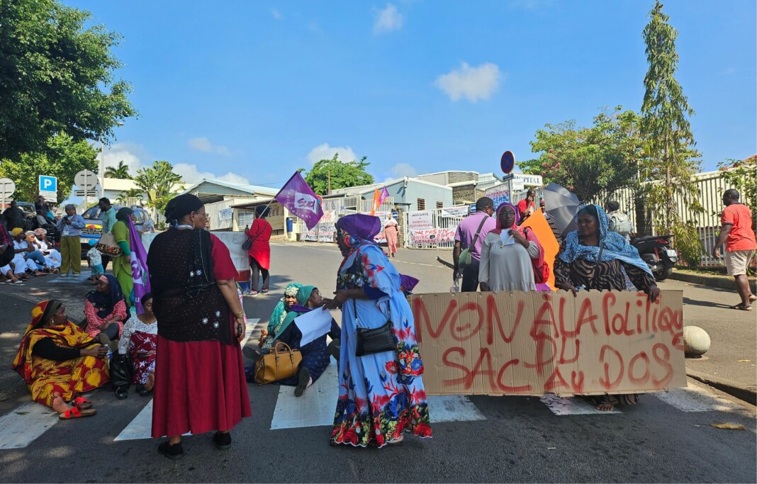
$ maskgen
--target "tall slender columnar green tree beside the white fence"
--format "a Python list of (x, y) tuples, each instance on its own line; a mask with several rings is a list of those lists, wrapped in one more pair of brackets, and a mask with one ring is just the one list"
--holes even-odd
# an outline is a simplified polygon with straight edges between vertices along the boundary
[(703, 210), (693, 178), (699, 169), (699, 153), (694, 149), (688, 119), (694, 111), (675, 79), (678, 31), (668, 23), (669, 18), (657, 0), (642, 34), (650, 66), (644, 76), (641, 104), (641, 134), (646, 142), (642, 176), (651, 182), (646, 187), (646, 199), (657, 233), (674, 234), (681, 258), (688, 265), (697, 265), (699, 237), (693, 222), (681, 217), (677, 200), (684, 200), (687, 213)]

